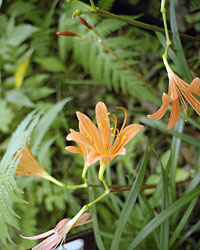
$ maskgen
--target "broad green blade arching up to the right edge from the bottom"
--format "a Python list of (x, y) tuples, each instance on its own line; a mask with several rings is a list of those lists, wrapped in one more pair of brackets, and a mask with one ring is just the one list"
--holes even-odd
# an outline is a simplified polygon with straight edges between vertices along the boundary
[(172, 216), (174, 213), (180, 211), (182, 207), (190, 203), (193, 199), (200, 195), (200, 187), (193, 189), (191, 192), (184, 194), (180, 199), (175, 201), (171, 206), (158, 214), (152, 219), (133, 239), (127, 250), (135, 249), (150, 233), (152, 233), (161, 223)]

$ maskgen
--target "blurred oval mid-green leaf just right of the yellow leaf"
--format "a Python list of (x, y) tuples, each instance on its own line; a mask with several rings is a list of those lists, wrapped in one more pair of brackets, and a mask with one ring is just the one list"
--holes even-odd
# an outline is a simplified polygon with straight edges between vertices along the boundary
[(36, 58), (35, 61), (49, 72), (64, 72), (66, 70), (65, 65), (57, 57)]

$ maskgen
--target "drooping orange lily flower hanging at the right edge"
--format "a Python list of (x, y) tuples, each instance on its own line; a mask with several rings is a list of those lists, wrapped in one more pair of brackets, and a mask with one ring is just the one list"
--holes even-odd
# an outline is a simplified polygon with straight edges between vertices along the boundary
[(169, 77), (168, 94), (163, 93), (162, 106), (154, 114), (148, 115), (147, 117), (150, 120), (160, 120), (166, 113), (169, 104), (172, 103), (172, 111), (169, 118), (168, 129), (173, 129), (180, 117), (179, 100), (183, 106), (183, 110), (186, 115), (185, 121), (187, 121), (187, 112), (188, 112), (188, 106), (185, 102), (185, 99), (196, 111), (196, 113), (198, 115), (200, 114), (200, 101), (195, 97), (195, 95), (200, 96), (200, 79), (196, 77), (193, 79), (191, 84), (188, 84), (185, 81), (183, 81), (180, 77), (178, 77), (171, 70), (171, 68), (168, 66), (167, 63), (166, 63), (166, 68)]

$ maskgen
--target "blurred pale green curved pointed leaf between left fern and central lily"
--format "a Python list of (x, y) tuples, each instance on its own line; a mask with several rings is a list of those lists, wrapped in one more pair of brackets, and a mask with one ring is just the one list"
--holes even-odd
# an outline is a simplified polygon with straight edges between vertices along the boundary
[(58, 102), (55, 104), (40, 120), (38, 123), (35, 131), (34, 131), (34, 142), (33, 142), (33, 147), (32, 147), (32, 153), (36, 155), (36, 152), (38, 150), (38, 147), (40, 145), (40, 142), (42, 138), (44, 137), (45, 133), (51, 126), (52, 122), (58, 115), (58, 113), (61, 111), (61, 109), (64, 107), (64, 105), (69, 102), (72, 98), (67, 97), (63, 99), (62, 101)]

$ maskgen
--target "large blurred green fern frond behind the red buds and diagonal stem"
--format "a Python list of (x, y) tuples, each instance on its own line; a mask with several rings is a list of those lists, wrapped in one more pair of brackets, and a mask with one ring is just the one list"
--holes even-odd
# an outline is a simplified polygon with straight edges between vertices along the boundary
[[(71, 27), (67, 25), (67, 20), (66, 17), (65, 27), (70, 31)], [(96, 22), (91, 17), (88, 17), (87, 21), (92, 25)], [(81, 24), (76, 24), (76, 26), (73, 26), (73, 32), (93, 38), (94, 34), (91, 31), (87, 30)], [(140, 56), (138, 51), (134, 51), (136, 42), (125, 37), (116, 38), (110, 36), (112, 32), (118, 31), (123, 25), (122, 22), (116, 20), (104, 19), (96, 22), (94, 27), (100, 34), (103, 42), (121, 57), (126, 64), (135, 68), (138, 64), (137, 58)], [(68, 38), (66, 39), (66, 43), (68, 43)], [(99, 84), (106, 85), (109, 89), (113, 87), (116, 92), (120, 90), (124, 92), (128, 91), (132, 96), (139, 99), (157, 102), (157, 99), (143, 85), (143, 82), (117, 61), (113, 55), (105, 51), (98, 42), (91, 43), (74, 39), (70, 40), (66, 46), (66, 50), (72, 50), (74, 59), (83, 66), (85, 71), (90, 71), (91, 76)]]

